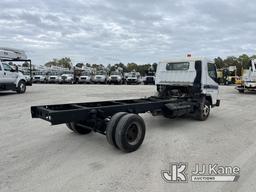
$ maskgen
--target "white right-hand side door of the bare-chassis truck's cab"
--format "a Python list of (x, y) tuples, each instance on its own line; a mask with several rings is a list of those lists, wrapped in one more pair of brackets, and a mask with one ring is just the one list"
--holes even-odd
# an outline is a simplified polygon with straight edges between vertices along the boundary
[(219, 98), (219, 85), (217, 68), (214, 63), (207, 63), (206, 84), (203, 86), (206, 95), (211, 96), (212, 104), (216, 104)]

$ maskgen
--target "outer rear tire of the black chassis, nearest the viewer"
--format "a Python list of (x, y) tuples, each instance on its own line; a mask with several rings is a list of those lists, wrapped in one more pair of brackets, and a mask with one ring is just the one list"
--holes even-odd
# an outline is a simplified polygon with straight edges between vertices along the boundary
[(144, 140), (145, 132), (145, 123), (139, 115), (126, 114), (117, 124), (116, 144), (123, 152), (136, 151)]

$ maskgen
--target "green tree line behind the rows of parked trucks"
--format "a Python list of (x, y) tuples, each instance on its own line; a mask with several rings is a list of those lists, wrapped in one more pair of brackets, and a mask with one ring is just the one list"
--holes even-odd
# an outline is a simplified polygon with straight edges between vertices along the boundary
[[(241, 75), (242, 69), (248, 69), (250, 67), (250, 60), (251, 59), (256, 59), (256, 55), (247, 55), (247, 54), (242, 54), (238, 57), (235, 56), (228, 56), (226, 58), (221, 58), (217, 57), (214, 59), (214, 62), (217, 66), (218, 69), (223, 69), (227, 68), (229, 66), (236, 66), (237, 68), (237, 75)], [(49, 61), (45, 64), (47, 67), (51, 66), (58, 66), (58, 67), (63, 67), (63, 68), (72, 68), (72, 62), (69, 57), (64, 57), (61, 59), (53, 59), (52, 61)], [(116, 63), (116, 64), (108, 64), (106, 67), (103, 64), (90, 64), (90, 63), (77, 63), (77, 67), (92, 67), (95, 68), (96, 70), (100, 69), (108, 69), (109, 71), (114, 71), (117, 68), (122, 68), (123, 72), (130, 72), (130, 71), (137, 71), (140, 72), (141, 75), (145, 75), (146, 71), (149, 69), (156, 71), (157, 68), (157, 63), (153, 64), (136, 64), (136, 63)]]

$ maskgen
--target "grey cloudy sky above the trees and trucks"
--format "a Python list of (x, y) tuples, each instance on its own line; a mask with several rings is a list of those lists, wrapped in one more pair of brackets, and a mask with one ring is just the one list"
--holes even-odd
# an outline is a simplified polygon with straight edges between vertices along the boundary
[(256, 54), (255, 0), (1, 0), (0, 47), (34, 64)]

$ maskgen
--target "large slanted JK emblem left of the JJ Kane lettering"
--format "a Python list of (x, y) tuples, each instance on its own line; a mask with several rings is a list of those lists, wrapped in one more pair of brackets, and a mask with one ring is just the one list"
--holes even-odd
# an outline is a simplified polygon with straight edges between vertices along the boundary
[(169, 170), (162, 170), (161, 176), (166, 182), (188, 182), (187, 163), (170, 163)]

